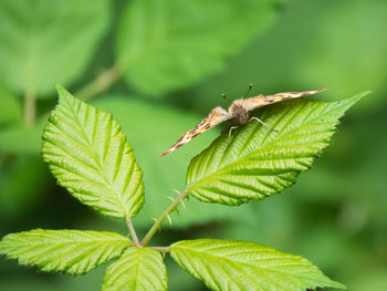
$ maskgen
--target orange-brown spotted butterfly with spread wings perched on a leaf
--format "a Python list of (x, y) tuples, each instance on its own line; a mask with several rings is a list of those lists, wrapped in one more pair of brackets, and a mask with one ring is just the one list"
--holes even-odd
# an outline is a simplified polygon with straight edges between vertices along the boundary
[[(258, 95), (254, 97), (245, 98), (251, 89), (252, 89), (252, 84), (249, 85), (249, 90), (245, 93), (244, 97), (233, 101), (227, 111), (219, 106), (215, 107), (205, 119), (202, 119), (197, 126), (195, 126), (194, 129), (190, 129), (184, 135), (181, 135), (181, 137), (171, 147), (169, 147), (167, 152), (165, 152), (159, 157), (170, 154), (175, 149), (190, 142), (194, 137), (197, 137), (199, 134), (202, 134), (203, 132), (207, 132), (213, 126), (226, 121), (231, 121), (231, 123), (233, 124), (229, 129), (229, 138), (228, 138), (229, 143), (231, 137), (231, 132), (238, 126), (247, 124), (250, 121), (258, 121), (263, 126), (268, 127), (268, 129), (276, 132), (274, 128), (270, 127), (260, 118), (255, 116), (250, 117), (249, 113), (258, 107), (262, 107), (272, 103), (276, 103), (283, 100), (297, 98), (306, 95), (312, 95), (326, 90), (326, 89), (322, 89), (322, 90), (304, 91), (304, 92), (283, 92), (274, 95), (266, 95), (266, 96)], [(222, 96), (226, 97), (224, 94), (222, 94)]]

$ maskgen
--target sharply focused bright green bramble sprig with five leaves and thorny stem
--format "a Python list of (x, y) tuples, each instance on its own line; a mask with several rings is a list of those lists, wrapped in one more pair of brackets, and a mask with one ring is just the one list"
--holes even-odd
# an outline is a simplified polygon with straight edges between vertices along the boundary
[(83, 274), (116, 259), (105, 272), (106, 291), (167, 290), (166, 253), (212, 290), (345, 289), (308, 260), (255, 242), (149, 242), (174, 211), (184, 210), (189, 196), (237, 206), (292, 186), (328, 146), (338, 118), (367, 92), (336, 102), (293, 100), (259, 108), (254, 114), (278, 132), (248, 123), (230, 144), (227, 132), (221, 134), (191, 160), (186, 188), (139, 240), (132, 219), (144, 204), (143, 172), (130, 144), (112, 114), (81, 102), (61, 85), (56, 89), (59, 105), (43, 132), (43, 158), (72, 196), (104, 216), (124, 219), (128, 236), (35, 229), (6, 236), (1, 253), (42, 271), (67, 274)]

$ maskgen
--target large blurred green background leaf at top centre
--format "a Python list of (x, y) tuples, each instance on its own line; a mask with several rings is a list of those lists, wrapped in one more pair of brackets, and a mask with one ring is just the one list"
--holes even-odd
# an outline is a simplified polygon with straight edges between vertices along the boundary
[(278, 0), (135, 0), (116, 41), (118, 66), (138, 90), (161, 95), (222, 67), (262, 32)]

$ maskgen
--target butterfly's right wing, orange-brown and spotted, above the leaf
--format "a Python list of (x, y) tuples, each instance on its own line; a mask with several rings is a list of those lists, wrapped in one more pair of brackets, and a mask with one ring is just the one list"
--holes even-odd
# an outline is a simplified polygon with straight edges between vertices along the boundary
[(243, 106), (248, 111), (253, 111), (258, 107), (262, 107), (272, 103), (276, 103), (283, 100), (290, 100), (290, 98), (297, 98), (306, 95), (313, 95), (320, 92), (325, 91), (326, 89), (322, 90), (314, 90), (314, 91), (304, 91), (304, 92), (283, 92), (278, 93), (274, 95), (259, 95), (255, 97), (243, 100)]

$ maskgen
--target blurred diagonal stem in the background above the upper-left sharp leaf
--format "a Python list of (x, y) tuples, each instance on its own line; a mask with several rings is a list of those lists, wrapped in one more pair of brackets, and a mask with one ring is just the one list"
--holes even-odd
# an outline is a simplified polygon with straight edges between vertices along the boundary
[(79, 90), (75, 95), (83, 101), (91, 100), (109, 89), (122, 75), (123, 72), (114, 65), (111, 69), (102, 71), (95, 80)]

